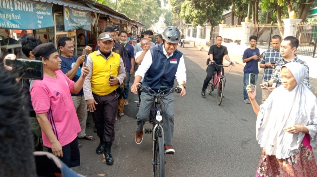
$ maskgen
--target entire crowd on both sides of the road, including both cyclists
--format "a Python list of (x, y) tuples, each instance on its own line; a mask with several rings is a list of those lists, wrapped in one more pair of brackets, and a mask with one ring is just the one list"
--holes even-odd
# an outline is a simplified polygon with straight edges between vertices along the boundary
[[(55, 160), (64, 162), (67, 167), (79, 166), (81, 141), (96, 139), (85, 133), (88, 109), (92, 112), (94, 131), (99, 139), (96, 153), (104, 155), (106, 164), (113, 164), (111, 150), (115, 141), (115, 122), (117, 116), (124, 116), (124, 105), (129, 104), (130, 92), (139, 97), (135, 142), (141, 144), (145, 121), (153, 121), (155, 113), (152, 97), (146, 91), (138, 90), (137, 86), (153, 90), (172, 88), (176, 79), (182, 89), (180, 96), (186, 94), (184, 56), (177, 50), (181, 32), (175, 27), (167, 27), (162, 34), (155, 35), (155, 43), (152, 42), (153, 35), (151, 30), (147, 30), (133, 39), (127, 31), (108, 26), (98, 36), (95, 51), (90, 46), (85, 47), (87, 56), (75, 56), (74, 43), (68, 37), (58, 40), (59, 55), (53, 43), (41, 44), (33, 36), (24, 36), (22, 52), (27, 59), (43, 62), (43, 80), (17, 78), (8, 71), (0, 70), (0, 76), (4, 77), (1, 82), (9, 88), (1, 88), (0, 97), (12, 97), (2, 99), (8, 100), (8, 103), (0, 102), (1, 112), (5, 113), (1, 118), (10, 114), (4, 106), (21, 105), (23, 109), (17, 109), (13, 117), (20, 117), (17, 125), (25, 130), (21, 137), (33, 142), (26, 147), (27, 155), (22, 161), (27, 161), (32, 151), (40, 148), (58, 157)], [(215, 71), (223, 71), (217, 66), (222, 65), (223, 58), (234, 65), (222, 40), (221, 36), (217, 36), (216, 44), (210, 46), (202, 96), (205, 96)], [(251, 103), (257, 115), (256, 139), (263, 148), (256, 177), (315, 177), (317, 164), (312, 148), (317, 146), (317, 99), (309, 90), (309, 68), (296, 55), (299, 41), (293, 36), (282, 40), (275, 35), (271, 38), (272, 48), (262, 54), (256, 47), (257, 41), (257, 36), (250, 36), (250, 47), (242, 57), (246, 63), (243, 101)], [(12, 70), (5, 65), (5, 59), (9, 58), (16, 59), (16, 56), (6, 55), (1, 68)], [(255, 100), (256, 86), (252, 88), (249, 85), (250, 74), (255, 74), (257, 82), (258, 63), (264, 69), (260, 84), (261, 105)], [(164, 67), (165, 70), (162, 70)], [(130, 78), (133, 74), (132, 82)], [(133, 84), (130, 85), (130, 82)], [(164, 97), (163, 102), (168, 104), (163, 110), (165, 152), (174, 154), (174, 96)], [(8, 125), (6, 131), (11, 131), (13, 127)], [(4, 135), (0, 133), (1, 137)], [(18, 150), (8, 151), (12, 155)], [(13, 165), (9, 162), (7, 166)], [(35, 171), (32, 163), (34, 160), (26, 166), (29, 172), (25, 172), (27, 169), (23, 167), (21, 173), (32, 175)], [(17, 172), (9, 167), (0, 171), (0, 174), (10, 173)]]

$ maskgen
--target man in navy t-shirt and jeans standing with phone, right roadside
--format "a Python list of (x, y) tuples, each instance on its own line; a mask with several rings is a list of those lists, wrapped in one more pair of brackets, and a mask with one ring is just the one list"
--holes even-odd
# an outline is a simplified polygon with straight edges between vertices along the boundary
[(247, 48), (242, 57), (242, 61), (246, 63), (243, 69), (243, 99), (244, 103), (250, 103), (248, 98), (248, 93), (246, 87), (249, 85), (249, 75), (255, 74), (255, 83), (258, 80), (259, 68), (258, 68), (258, 59), (260, 56), (260, 50), (255, 47), (258, 38), (254, 35), (250, 36), (250, 48)]

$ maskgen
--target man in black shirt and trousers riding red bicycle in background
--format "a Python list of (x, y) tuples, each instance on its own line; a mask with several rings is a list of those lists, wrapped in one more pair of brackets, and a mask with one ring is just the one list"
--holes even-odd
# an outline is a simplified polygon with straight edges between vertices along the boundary
[[(227, 59), (230, 62), (230, 64), (234, 65), (234, 63), (231, 62), (231, 60), (229, 59), (227, 47), (221, 45), (222, 37), (217, 36), (215, 42), (216, 44), (211, 45), (208, 52), (210, 61), (207, 63), (208, 65), (207, 76), (203, 82), (202, 89), (201, 89), (202, 96), (206, 96), (206, 88), (208, 86), (209, 81), (213, 77), (216, 68), (217, 68), (217, 72), (222, 70), (222, 75), (224, 75), (223, 67), (217, 66), (217, 65), (222, 65), (223, 57), (225, 57), (225, 59)], [(213, 61), (215, 61), (217, 65), (214, 64)]]

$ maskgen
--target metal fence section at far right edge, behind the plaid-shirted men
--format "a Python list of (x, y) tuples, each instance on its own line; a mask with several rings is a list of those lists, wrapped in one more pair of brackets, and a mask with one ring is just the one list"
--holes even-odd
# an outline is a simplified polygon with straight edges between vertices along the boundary
[(300, 44), (296, 53), (299, 55), (317, 57), (317, 22), (301, 22), (296, 24), (296, 31), (293, 36), (299, 40)]

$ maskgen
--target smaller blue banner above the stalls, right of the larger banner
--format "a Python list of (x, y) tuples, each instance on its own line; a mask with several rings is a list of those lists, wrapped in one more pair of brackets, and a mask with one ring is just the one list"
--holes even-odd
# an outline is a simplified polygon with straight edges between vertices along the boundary
[(90, 12), (81, 11), (64, 6), (65, 31), (84, 29), (91, 31)]

